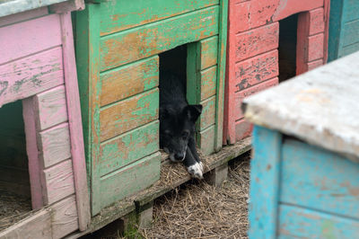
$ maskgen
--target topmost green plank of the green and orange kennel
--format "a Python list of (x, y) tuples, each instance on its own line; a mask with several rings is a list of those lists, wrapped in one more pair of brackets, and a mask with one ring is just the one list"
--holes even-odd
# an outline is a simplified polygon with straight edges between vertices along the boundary
[(218, 0), (111, 1), (101, 4), (101, 36), (218, 4)]

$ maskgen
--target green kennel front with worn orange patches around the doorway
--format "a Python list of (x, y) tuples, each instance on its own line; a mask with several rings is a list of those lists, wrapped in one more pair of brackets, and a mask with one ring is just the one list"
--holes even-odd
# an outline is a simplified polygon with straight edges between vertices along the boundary
[(187, 44), (188, 101), (204, 105), (198, 146), (222, 147), (228, 4), (97, 2), (74, 16), (92, 215), (160, 177), (158, 54)]

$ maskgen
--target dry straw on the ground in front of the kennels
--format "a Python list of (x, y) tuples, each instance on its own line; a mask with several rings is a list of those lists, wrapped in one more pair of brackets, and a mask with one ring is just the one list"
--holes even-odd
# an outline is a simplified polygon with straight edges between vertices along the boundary
[(228, 181), (215, 188), (206, 181), (186, 183), (153, 206), (153, 227), (144, 238), (247, 238), (250, 155), (230, 166)]

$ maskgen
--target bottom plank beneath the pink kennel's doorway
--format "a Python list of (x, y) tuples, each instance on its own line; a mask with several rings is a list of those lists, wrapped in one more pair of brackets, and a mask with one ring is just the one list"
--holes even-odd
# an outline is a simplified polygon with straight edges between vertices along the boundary
[[(34, 229), (36, 228), (36, 229)], [(1, 239), (51, 238), (51, 210), (44, 208), (0, 232)]]

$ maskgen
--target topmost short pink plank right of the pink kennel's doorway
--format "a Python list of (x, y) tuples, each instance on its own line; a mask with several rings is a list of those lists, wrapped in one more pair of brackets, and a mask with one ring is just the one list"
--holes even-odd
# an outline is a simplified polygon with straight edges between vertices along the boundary
[(35, 96), (39, 110), (38, 129), (44, 130), (67, 121), (65, 86), (60, 85), (54, 89)]

